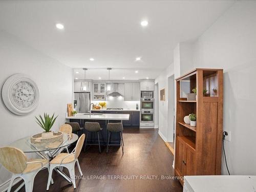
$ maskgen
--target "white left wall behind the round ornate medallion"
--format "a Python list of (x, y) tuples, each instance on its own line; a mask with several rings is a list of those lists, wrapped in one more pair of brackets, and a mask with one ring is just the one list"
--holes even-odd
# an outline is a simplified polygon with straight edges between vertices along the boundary
[[(26, 116), (12, 114), (0, 100), (1, 139), (0, 147), (9, 143), (42, 132), (35, 122), (35, 115), (55, 113), (59, 115), (53, 130), (65, 122), (67, 103), (72, 102), (72, 69), (62, 65), (37, 50), (25, 45), (16, 37), (0, 31), (0, 86), (15, 73), (25, 73), (37, 83), (40, 91), (39, 104), (35, 111)], [(0, 165), (0, 191), (5, 186), (10, 174)]]

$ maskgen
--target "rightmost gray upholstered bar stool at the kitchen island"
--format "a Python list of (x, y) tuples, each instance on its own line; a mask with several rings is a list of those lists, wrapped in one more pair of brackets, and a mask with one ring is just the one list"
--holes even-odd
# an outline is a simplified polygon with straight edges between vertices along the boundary
[[(108, 125), (106, 125), (106, 129), (110, 132), (109, 135), (109, 140), (108, 140), (108, 146), (106, 147), (106, 153), (108, 153), (109, 151), (109, 145), (117, 145), (117, 146), (122, 146), (122, 153), (123, 153), (123, 124), (122, 123), (108, 123)], [(115, 133), (119, 133), (120, 134), (120, 139), (121, 142), (120, 144), (110, 144), (110, 136), (111, 136), (111, 132), (115, 132)]]

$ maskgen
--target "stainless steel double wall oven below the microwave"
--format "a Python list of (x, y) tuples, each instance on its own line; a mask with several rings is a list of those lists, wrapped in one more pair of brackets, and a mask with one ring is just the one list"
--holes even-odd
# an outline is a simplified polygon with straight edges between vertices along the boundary
[(154, 99), (141, 98), (141, 126), (154, 126)]

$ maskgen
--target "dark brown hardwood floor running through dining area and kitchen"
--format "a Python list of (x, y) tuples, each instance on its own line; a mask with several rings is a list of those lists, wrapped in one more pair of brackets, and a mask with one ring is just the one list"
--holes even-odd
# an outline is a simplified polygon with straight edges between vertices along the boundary
[[(174, 169), (173, 155), (158, 135), (158, 130), (127, 128), (123, 132), (123, 140), (123, 155), (118, 146), (110, 146), (108, 154), (105, 153), (106, 147), (99, 154), (98, 146), (93, 145), (86, 153), (81, 152), (79, 163), (83, 179), (76, 180), (76, 189), (54, 172), (54, 184), (50, 185), (49, 191), (182, 191), (177, 180), (161, 179), (161, 176), (174, 176)], [(77, 166), (75, 171), (78, 176)], [(89, 179), (97, 176), (105, 176), (105, 179)], [(134, 179), (118, 180), (108, 176), (134, 176)], [(142, 179), (143, 176), (148, 178)], [(47, 179), (47, 170), (41, 170), (35, 178), (33, 191), (46, 191)]]

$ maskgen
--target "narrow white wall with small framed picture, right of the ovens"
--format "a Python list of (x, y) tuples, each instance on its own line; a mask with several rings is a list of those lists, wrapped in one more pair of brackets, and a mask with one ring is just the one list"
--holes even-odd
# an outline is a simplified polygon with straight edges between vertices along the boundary
[(160, 90), (165, 89), (165, 101), (159, 100), (159, 135), (163, 140), (167, 141), (167, 126), (168, 126), (168, 77), (174, 74), (174, 63), (165, 69), (156, 79), (158, 83), (158, 98), (160, 99)]

